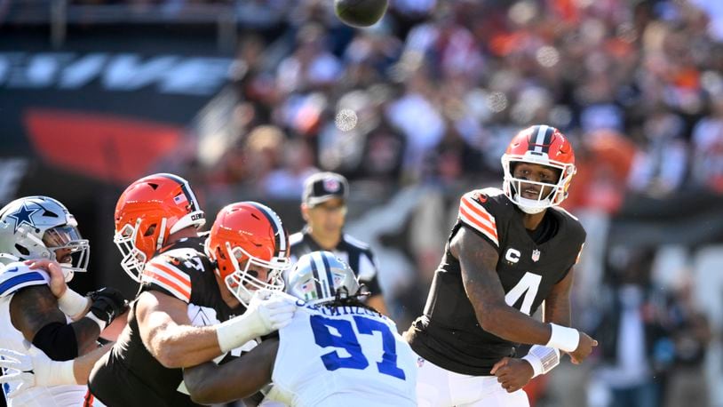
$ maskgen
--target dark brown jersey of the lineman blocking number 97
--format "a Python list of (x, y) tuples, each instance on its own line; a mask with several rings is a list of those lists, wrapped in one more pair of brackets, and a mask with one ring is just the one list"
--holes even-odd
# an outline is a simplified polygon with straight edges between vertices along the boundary
[[(163, 292), (186, 302), (194, 325), (223, 322), (245, 309), (231, 309), (222, 299), (214, 266), (203, 253), (202, 237), (172, 243), (148, 261), (141, 277), (143, 291)], [(164, 367), (143, 344), (133, 302), (128, 326), (91, 372), (91, 393), (107, 406), (199, 405), (182, 382), (182, 369)]]

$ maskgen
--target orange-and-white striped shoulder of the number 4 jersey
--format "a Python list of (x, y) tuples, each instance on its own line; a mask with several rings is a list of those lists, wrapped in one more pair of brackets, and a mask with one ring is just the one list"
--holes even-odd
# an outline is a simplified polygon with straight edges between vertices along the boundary
[[(497, 216), (501, 211), (499, 198), (502, 191), (497, 188), (475, 189), (459, 200), (457, 217), (466, 226), (472, 227), (490, 242), (499, 247)], [(505, 196), (503, 196), (505, 197)]]

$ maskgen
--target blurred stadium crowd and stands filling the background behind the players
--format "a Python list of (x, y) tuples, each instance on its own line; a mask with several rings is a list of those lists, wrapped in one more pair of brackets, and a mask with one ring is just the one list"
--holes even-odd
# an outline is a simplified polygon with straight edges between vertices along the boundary
[(91, 241), (76, 291), (131, 296), (112, 243), (131, 180), (178, 173), (209, 223), (258, 200), (293, 232), (303, 180), (340, 172), (406, 330), (459, 197), (551, 124), (588, 233), (573, 323), (601, 346), (533, 405), (723, 407), (723, 2), (391, 0), (368, 29), (332, 4), (0, 0), (0, 204), (65, 203)]

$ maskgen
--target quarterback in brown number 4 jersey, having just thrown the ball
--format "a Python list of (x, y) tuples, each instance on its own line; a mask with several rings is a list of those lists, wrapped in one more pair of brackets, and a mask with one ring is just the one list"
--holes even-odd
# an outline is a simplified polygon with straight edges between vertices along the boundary
[[(569, 328), (573, 267), (585, 232), (560, 208), (576, 172), (557, 129), (519, 132), (502, 156), (503, 189), (462, 196), (424, 314), (406, 338), (419, 355), (420, 406), (529, 405), (521, 387), (597, 341)], [(530, 315), (545, 302), (544, 322)], [(515, 358), (519, 344), (533, 345)]]

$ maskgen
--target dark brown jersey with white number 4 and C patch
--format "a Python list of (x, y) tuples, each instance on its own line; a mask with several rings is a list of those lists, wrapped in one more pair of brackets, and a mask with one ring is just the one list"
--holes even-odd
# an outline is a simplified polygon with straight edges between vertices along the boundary
[(585, 232), (568, 211), (552, 207), (545, 217), (552, 217), (555, 229), (543, 243), (536, 243), (524, 227), (523, 215), (497, 188), (462, 196), (457, 223), (434, 273), (424, 315), (409, 328), (409, 344), (418, 355), (449, 371), (476, 376), (489, 375), (497, 361), (514, 355), (519, 344), (481, 328), (449, 242), (460, 227), (467, 227), (497, 248), (497, 276), (505, 290), (505, 301), (533, 315), (552, 286), (576, 263)]

